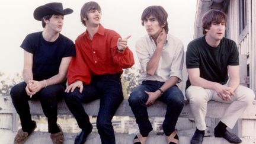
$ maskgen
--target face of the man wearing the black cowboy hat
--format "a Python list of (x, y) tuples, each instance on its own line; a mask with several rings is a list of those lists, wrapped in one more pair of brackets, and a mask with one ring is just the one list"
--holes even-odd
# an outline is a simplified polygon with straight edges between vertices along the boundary
[(64, 21), (64, 15), (52, 15), (52, 17), (49, 20), (44, 20), (46, 23), (46, 27), (50, 28), (53, 31), (56, 31), (57, 33), (60, 33), (62, 31), (63, 27), (63, 21)]

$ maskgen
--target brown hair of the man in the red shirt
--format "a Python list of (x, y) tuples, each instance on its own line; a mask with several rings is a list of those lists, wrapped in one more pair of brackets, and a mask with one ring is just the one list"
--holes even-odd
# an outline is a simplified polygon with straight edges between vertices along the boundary
[[(98, 10), (101, 11), (100, 5), (97, 2), (94, 1), (90, 1), (85, 3), (82, 8), (81, 8), (81, 12), (80, 12), (80, 18), (81, 18), (81, 22), (82, 24), (85, 25), (85, 21), (83, 20), (84, 18), (88, 19), (88, 13), (90, 10)], [(86, 25), (85, 25), (86, 26)]]

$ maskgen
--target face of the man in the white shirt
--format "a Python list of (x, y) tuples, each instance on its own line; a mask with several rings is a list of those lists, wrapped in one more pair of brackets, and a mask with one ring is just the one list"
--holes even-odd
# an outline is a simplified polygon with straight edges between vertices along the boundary
[(164, 26), (160, 26), (158, 20), (152, 15), (143, 20), (144, 27), (149, 36), (158, 37)]

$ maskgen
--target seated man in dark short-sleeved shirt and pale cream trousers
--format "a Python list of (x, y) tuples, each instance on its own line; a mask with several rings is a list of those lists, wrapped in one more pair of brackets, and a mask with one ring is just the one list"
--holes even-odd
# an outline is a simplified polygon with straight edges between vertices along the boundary
[(230, 103), (215, 127), (214, 135), (230, 143), (241, 143), (242, 140), (226, 127), (233, 128), (255, 97), (251, 89), (239, 85), (239, 53), (236, 43), (223, 37), (226, 22), (225, 13), (211, 9), (203, 17), (204, 36), (188, 44), (185, 95), (197, 127), (191, 144), (203, 142), (207, 102), (210, 100)]

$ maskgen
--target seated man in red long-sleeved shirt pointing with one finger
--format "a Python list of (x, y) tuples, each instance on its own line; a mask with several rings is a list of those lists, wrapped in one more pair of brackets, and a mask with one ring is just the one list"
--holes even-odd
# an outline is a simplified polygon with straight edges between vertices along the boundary
[(111, 120), (123, 101), (120, 75), (123, 68), (135, 62), (127, 47), (127, 39), (121, 39), (113, 30), (101, 24), (101, 8), (96, 2), (87, 2), (81, 9), (81, 22), (87, 27), (75, 41), (76, 56), (68, 70), (65, 101), (82, 131), (75, 143), (84, 143), (92, 131), (92, 124), (82, 103), (100, 98), (97, 129), (101, 143), (116, 143)]

